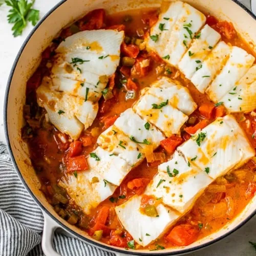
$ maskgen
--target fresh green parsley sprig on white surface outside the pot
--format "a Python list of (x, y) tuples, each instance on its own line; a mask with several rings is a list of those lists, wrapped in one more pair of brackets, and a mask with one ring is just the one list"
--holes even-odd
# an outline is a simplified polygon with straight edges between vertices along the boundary
[(8, 22), (14, 24), (12, 27), (13, 36), (21, 35), (28, 22), (33, 26), (39, 20), (39, 11), (32, 8), (35, 0), (28, 3), (28, 0), (6, 0), (6, 5), (11, 7), (9, 10)]

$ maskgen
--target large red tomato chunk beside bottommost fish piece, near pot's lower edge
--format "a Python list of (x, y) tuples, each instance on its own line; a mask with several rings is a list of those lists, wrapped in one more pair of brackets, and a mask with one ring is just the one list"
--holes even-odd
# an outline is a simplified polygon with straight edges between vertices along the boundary
[(181, 224), (169, 232), (166, 240), (177, 246), (186, 246), (197, 240), (199, 228), (190, 224)]

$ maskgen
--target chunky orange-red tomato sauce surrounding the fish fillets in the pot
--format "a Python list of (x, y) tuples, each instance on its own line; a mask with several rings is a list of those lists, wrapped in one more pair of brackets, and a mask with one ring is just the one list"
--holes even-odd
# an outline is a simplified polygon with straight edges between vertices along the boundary
[[(100, 10), (94, 11), (93, 14), (87, 15), (82, 19), (86, 20), (87, 23), (79, 20), (72, 26), (73, 30), (75, 26), (79, 31), (80, 29), (104, 28), (122, 24), (125, 26), (126, 37), (130, 38), (130, 40), (133, 40), (133, 38), (143, 40), (150, 27), (157, 21), (158, 14), (158, 9), (141, 9), (125, 11), (111, 16), (106, 15), (104, 17), (104, 11)], [(252, 53), (246, 42), (233, 29), (232, 24), (218, 22), (212, 16), (207, 17), (207, 23), (221, 33), (222, 40)], [(114, 207), (122, 204), (135, 194), (141, 194), (141, 191), (136, 189), (136, 186), (130, 189), (127, 183), (135, 178), (145, 178), (144, 181), (146, 179), (153, 179), (157, 173), (157, 165), (161, 162), (147, 163), (146, 159), (144, 159), (139, 166), (133, 168), (125, 177), (115, 193), (109, 199), (100, 203), (89, 216), (84, 215), (80, 207), (70, 200), (65, 189), (57, 185), (67, 175), (67, 159), (70, 157), (69, 154), (72, 155), (74, 153), (70, 149), (72, 140), (69, 136), (61, 134), (52, 124), (47, 122), (45, 118), (46, 111), (39, 108), (36, 103), (35, 90), (40, 85), (42, 77), (50, 73), (50, 68), (48, 67), (50, 67), (49, 63), (52, 62), (54, 49), (56, 49), (63, 38), (71, 34), (73, 34), (72, 29), (67, 28), (61, 32), (59, 38), (53, 40), (52, 45), (42, 54), (42, 61), (39, 68), (28, 81), (26, 90), (27, 99), (24, 107), (24, 117), (27, 123), (22, 131), (23, 138), (29, 145), (31, 161), (41, 181), (41, 190), (57, 213), (69, 223), (88, 231), (95, 239), (100, 239), (107, 244), (127, 247), (127, 243), (133, 239), (127, 231), (123, 230), (115, 214)], [(162, 75), (173, 78), (187, 87), (191, 96), (198, 104), (198, 109), (190, 116), (182, 128), (181, 137), (184, 140), (189, 139), (189, 134), (185, 132), (186, 127), (194, 126), (205, 119), (202, 111), (199, 111), (200, 106), (205, 104), (207, 111), (208, 106), (213, 104), (205, 94), (201, 94), (177, 69), (167, 67), (160, 57), (141, 50), (136, 61), (139, 61), (139, 58), (150, 58), (150, 69), (136, 69), (136, 62), (132, 69), (126, 68), (124, 72), (122, 72), (122, 65), (118, 67), (112, 84), (112, 86), (114, 85), (112, 90), (114, 97), (108, 100), (102, 98), (99, 101), (97, 118), (92, 126), (80, 136), (80, 142), (77, 145), (78, 149), (74, 149), (78, 150), (79, 155), (88, 155), (92, 152), (96, 148), (96, 140), (99, 134), (110, 126), (120, 113), (131, 108), (133, 103), (138, 99), (140, 90), (150, 86), (153, 81)], [(125, 98), (127, 90), (130, 89), (127, 88), (128, 82), (126, 82), (129, 79), (132, 79), (130, 86), (135, 89), (135, 97), (133, 99)], [(216, 108), (213, 107), (212, 110), (213, 114), (210, 114), (207, 118), (208, 123), (215, 119), (214, 113)], [(235, 116), (245, 130), (252, 146), (256, 147), (256, 138), (254, 138), (256, 113), (255, 115), (236, 114)], [(170, 156), (170, 152), (165, 149), (160, 146), (156, 152), (163, 153), (167, 159)], [(76, 171), (74, 172), (75, 174)], [(162, 238), (156, 243), (147, 246), (146, 249), (158, 250), (192, 243), (196, 239), (203, 238), (217, 231), (226, 223), (236, 218), (256, 191), (254, 162), (250, 161), (239, 170), (225, 177), (218, 178), (213, 184), (224, 184), (226, 188), (225, 192), (210, 193), (206, 189), (205, 193), (197, 200), (193, 209), (182, 217), (175, 227), (170, 228)], [(132, 187), (131, 184), (130, 187)], [(97, 217), (98, 215), (101, 216), (101, 219), (103, 218), (103, 222), (98, 222), (100, 219)], [(95, 232), (97, 231), (96, 224), (98, 225), (98, 229), (103, 230), (102, 235)], [(182, 234), (183, 237), (187, 237), (187, 241), (173, 242), (177, 233)], [(137, 244), (135, 248), (139, 249), (141, 246)]]

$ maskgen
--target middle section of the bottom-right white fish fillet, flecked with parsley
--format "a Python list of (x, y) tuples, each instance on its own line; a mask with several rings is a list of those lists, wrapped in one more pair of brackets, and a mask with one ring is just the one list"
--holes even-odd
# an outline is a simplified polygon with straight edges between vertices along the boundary
[(162, 198), (165, 205), (185, 214), (212, 181), (203, 170), (188, 166), (183, 156), (175, 152), (171, 160), (158, 166), (158, 174), (145, 194)]

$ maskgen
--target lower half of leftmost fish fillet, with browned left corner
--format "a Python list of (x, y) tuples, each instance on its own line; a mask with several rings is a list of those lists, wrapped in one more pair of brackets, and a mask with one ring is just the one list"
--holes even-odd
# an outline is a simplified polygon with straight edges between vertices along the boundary
[(98, 103), (51, 91), (45, 86), (38, 87), (36, 95), (38, 105), (46, 109), (51, 123), (72, 139), (77, 139), (82, 129), (93, 123), (98, 112)]

